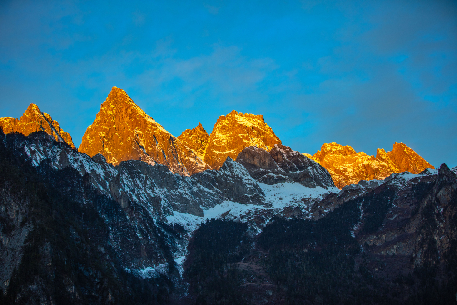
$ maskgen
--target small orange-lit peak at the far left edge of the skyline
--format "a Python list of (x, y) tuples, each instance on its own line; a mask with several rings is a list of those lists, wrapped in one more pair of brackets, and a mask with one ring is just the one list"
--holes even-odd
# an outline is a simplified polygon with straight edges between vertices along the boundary
[(41, 112), (35, 104), (30, 104), (19, 119), (0, 118), (0, 127), (3, 128), (5, 134), (19, 132), (29, 135), (42, 130), (52, 135), (56, 141), (66, 142), (72, 148), (75, 148), (70, 134), (64, 132), (57, 121), (54, 121), (48, 113)]

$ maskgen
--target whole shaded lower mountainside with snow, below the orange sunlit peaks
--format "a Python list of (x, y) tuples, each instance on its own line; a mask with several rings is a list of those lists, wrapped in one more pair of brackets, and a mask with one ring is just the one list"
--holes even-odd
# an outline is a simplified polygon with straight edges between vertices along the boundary
[(282, 146), (248, 149), (261, 177), (284, 177), (267, 184), (230, 158), (182, 177), (112, 166), (44, 132), (0, 138), (5, 304), (455, 299), (457, 178), (446, 165), (340, 191)]

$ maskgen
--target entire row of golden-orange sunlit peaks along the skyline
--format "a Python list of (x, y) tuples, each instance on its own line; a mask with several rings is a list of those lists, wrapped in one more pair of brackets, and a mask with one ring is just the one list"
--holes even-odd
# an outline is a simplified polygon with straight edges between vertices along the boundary
[[(0, 118), (0, 127), (6, 134), (28, 135), (43, 130), (74, 147), (71, 136), (35, 104), (30, 104), (20, 119)], [(173, 173), (190, 176), (207, 169), (218, 170), (227, 156), (236, 159), (245, 147), (270, 151), (275, 144), (282, 142), (262, 115), (234, 110), (218, 118), (211, 134), (199, 123), (175, 138), (125, 91), (113, 87), (95, 121), (87, 128), (78, 150), (90, 156), (100, 153), (114, 166), (121, 161), (140, 160), (163, 164)], [(325, 143), (314, 155), (303, 155), (324, 166), (340, 189), (360, 180), (384, 179), (394, 172), (418, 174), (426, 168), (435, 169), (414, 150), (397, 142), (389, 152), (377, 149), (376, 157), (336, 143)]]

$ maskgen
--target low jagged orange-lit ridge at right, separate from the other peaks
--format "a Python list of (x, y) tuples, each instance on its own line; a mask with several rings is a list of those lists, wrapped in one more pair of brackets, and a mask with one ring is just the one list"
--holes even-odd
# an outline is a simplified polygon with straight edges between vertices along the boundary
[(324, 166), (339, 188), (360, 180), (384, 179), (393, 172), (418, 174), (425, 168), (435, 168), (414, 150), (397, 142), (392, 151), (378, 149), (376, 157), (336, 143), (325, 143), (314, 155), (304, 155)]

